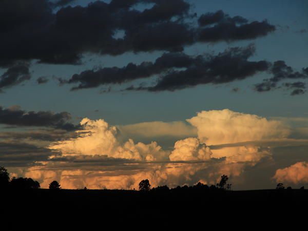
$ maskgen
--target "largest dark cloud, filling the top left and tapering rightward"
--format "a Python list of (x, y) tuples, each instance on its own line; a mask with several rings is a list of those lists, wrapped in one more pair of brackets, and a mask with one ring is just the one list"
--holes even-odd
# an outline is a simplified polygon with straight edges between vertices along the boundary
[[(263, 22), (248, 23), (241, 16), (221, 12), (202, 15), (193, 22), (184, 0), (96, 1), (86, 7), (62, 7), (72, 1), (0, 1), (0, 66), (16, 60), (53, 64), (80, 64), (85, 52), (118, 55), (127, 51), (182, 51), (196, 42), (251, 39), (275, 29)], [(136, 10), (139, 3), (153, 4)], [(216, 14), (222, 18), (215, 19)], [(214, 17), (211, 20), (210, 17)], [(215, 22), (214, 26), (209, 23)], [(123, 38), (115, 38), (118, 30)], [(223, 32), (224, 30), (225, 32)]]

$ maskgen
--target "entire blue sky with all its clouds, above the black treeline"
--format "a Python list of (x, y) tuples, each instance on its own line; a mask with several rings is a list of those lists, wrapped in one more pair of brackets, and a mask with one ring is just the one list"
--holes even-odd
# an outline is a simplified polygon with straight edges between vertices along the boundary
[(308, 187), (308, 3), (0, 2), (0, 165), (41, 187)]

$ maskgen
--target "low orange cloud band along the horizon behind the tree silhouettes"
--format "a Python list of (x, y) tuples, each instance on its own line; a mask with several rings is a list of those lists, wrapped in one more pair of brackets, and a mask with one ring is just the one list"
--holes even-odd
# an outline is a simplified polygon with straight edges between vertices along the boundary
[[(167, 163), (151, 164), (138, 171), (104, 170), (49, 170), (49, 166), (36, 166), (27, 169), (25, 176), (41, 181), (41, 187), (47, 188), (53, 180), (60, 182), (63, 188), (74, 189), (138, 189), (143, 179), (149, 179), (152, 187), (159, 185), (190, 185), (192, 182), (215, 184), (223, 174), (239, 176), (243, 164), (219, 162), (204, 163)], [(61, 168), (61, 165), (59, 166)]]

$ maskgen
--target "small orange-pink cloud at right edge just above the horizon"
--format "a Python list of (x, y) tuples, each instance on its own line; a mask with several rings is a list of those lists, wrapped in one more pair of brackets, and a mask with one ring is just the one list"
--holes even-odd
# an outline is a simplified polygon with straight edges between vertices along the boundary
[(289, 167), (277, 169), (273, 178), (276, 182), (308, 183), (308, 163), (297, 162)]

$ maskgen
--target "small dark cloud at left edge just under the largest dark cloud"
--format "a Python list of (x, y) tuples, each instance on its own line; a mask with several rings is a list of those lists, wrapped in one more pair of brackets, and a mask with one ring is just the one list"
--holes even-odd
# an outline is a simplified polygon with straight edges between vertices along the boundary
[[(1, 38), (0, 38), (1, 39)], [(0, 76), (0, 91), (18, 85), (31, 78), (28, 63), (16, 63)]]

